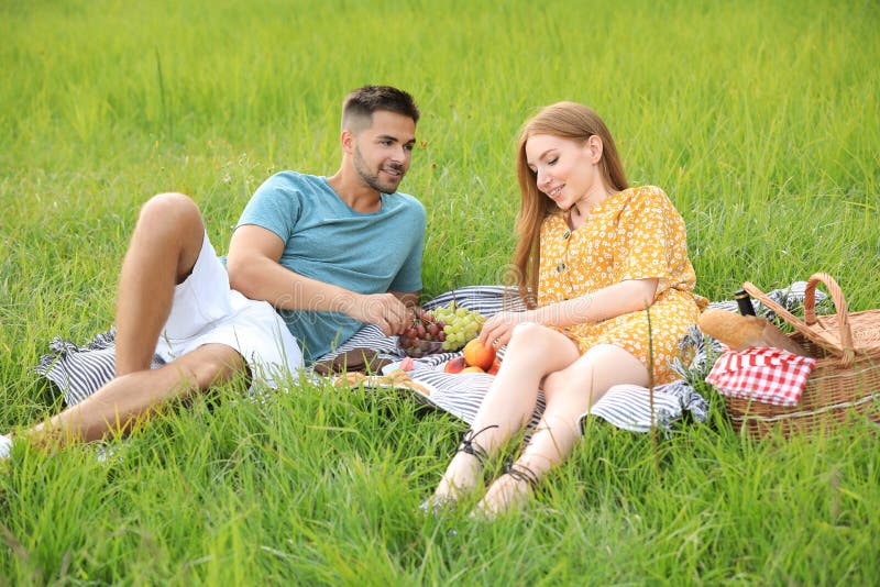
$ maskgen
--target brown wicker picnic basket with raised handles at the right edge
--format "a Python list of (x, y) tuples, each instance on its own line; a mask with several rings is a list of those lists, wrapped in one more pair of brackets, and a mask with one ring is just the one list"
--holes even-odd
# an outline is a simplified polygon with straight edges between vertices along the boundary
[[(816, 285), (824, 284), (836, 314), (816, 315)], [(756, 438), (774, 432), (831, 430), (854, 412), (880, 422), (880, 310), (849, 313), (844, 292), (827, 274), (816, 273), (806, 284), (804, 320), (770, 299), (755, 285), (743, 287), (794, 328), (789, 336), (817, 358), (798, 406), (772, 406), (725, 397), (737, 430)]]

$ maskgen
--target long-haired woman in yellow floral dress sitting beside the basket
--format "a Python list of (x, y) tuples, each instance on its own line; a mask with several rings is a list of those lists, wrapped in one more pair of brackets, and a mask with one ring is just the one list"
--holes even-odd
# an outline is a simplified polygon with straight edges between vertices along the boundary
[(530, 442), (476, 506), (488, 517), (521, 505), (571, 453), (580, 416), (608, 388), (673, 380), (669, 362), (705, 304), (693, 294), (681, 215), (661, 189), (628, 188), (591, 109), (559, 102), (528, 121), (517, 176), (514, 262), (529, 310), (484, 324), (483, 344), (507, 345), (504, 363), (429, 500), (476, 488), (485, 458), (528, 423), (540, 389), (547, 407)]

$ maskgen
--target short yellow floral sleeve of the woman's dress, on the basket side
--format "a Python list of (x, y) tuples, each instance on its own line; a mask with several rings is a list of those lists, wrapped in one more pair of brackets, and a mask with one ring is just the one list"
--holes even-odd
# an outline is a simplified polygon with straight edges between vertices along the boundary
[(620, 213), (614, 252), (615, 277), (657, 278), (658, 295), (686, 264), (684, 220), (660, 188), (639, 188)]

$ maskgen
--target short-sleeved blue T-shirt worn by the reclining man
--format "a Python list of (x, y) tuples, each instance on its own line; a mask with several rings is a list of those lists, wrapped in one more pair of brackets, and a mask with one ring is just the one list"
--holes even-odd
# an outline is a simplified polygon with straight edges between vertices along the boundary
[[(282, 171), (254, 192), (239, 223), (284, 241), (279, 263), (306, 277), (358, 294), (421, 289), (425, 207), (406, 193), (383, 193), (378, 212), (343, 202), (326, 177)], [(340, 312), (278, 310), (307, 361), (332, 351), (363, 323)]]

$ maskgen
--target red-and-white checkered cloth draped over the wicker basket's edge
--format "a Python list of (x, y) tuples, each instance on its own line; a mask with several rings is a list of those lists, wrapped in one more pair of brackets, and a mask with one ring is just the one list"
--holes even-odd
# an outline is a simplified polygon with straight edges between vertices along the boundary
[(725, 351), (706, 381), (725, 396), (773, 406), (796, 406), (816, 359), (773, 346)]

